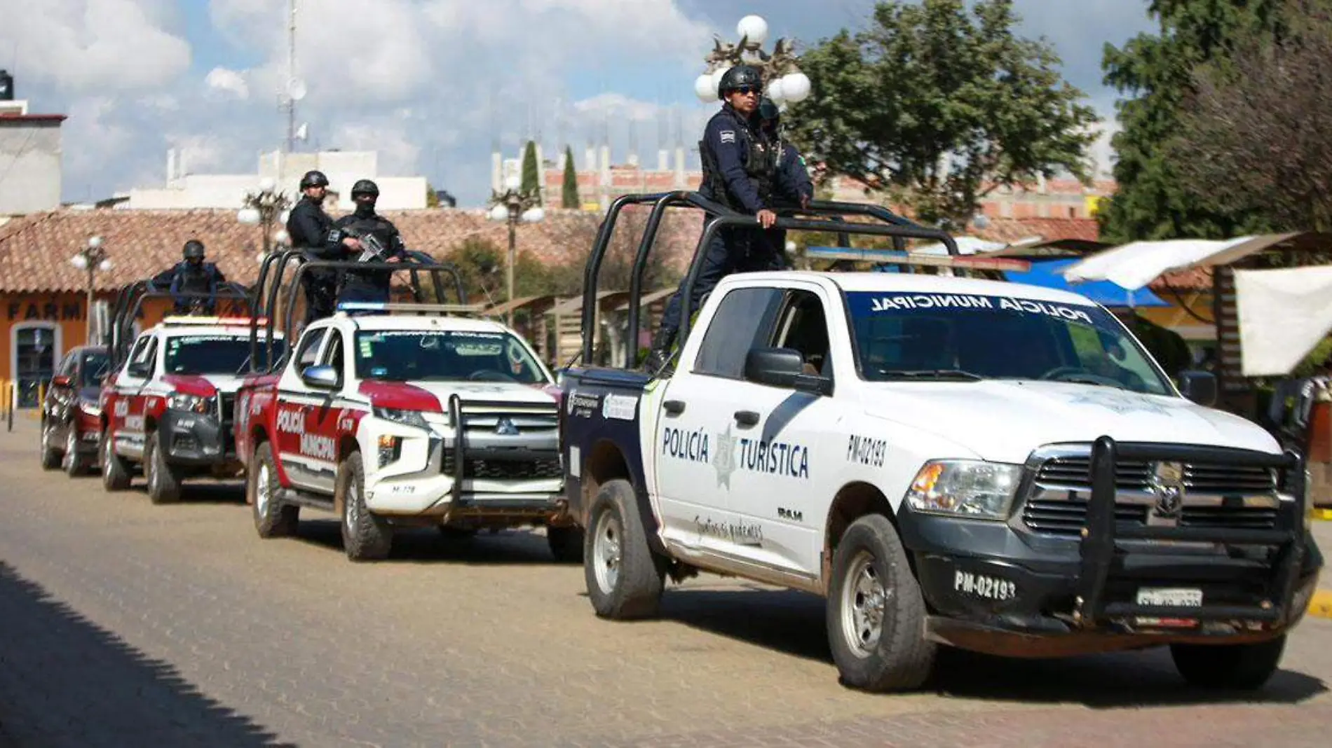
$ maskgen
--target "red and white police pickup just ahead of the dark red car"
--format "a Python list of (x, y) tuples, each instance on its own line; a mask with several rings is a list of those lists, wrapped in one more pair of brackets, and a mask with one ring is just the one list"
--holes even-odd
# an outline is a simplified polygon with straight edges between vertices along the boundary
[(166, 317), (139, 335), (101, 390), (108, 491), (128, 488), (136, 465), (153, 503), (178, 499), (186, 478), (241, 471), (232, 405), (249, 370), (249, 330), (245, 317)]

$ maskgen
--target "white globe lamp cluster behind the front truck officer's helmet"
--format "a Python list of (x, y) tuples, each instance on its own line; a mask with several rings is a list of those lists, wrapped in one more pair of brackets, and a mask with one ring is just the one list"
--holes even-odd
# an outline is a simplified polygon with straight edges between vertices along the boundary
[(763, 75), (763, 93), (774, 104), (786, 109), (786, 104), (805, 101), (810, 96), (810, 79), (798, 67), (795, 43), (778, 39), (773, 52), (763, 51), (767, 39), (767, 21), (761, 16), (745, 16), (735, 25), (741, 40), (735, 44), (714, 37), (713, 51), (703, 63), (707, 71), (694, 81), (694, 93), (705, 102), (714, 102), (719, 96), (722, 76), (735, 65), (753, 65)]

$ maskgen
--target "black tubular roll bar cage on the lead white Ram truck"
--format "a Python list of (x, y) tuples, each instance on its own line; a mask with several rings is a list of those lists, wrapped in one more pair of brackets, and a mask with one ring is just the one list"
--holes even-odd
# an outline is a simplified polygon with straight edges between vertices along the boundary
[[(703, 266), (703, 257), (709, 242), (713, 241), (713, 237), (715, 237), (717, 232), (722, 228), (758, 225), (757, 217), (737, 213), (719, 202), (703, 197), (698, 192), (679, 190), (650, 194), (625, 194), (615, 198), (615, 201), (610, 204), (610, 209), (606, 212), (606, 218), (602, 220), (601, 228), (597, 232), (597, 238), (593, 242), (591, 254), (587, 257), (587, 265), (583, 270), (583, 339), (579, 355), (585, 362), (591, 361), (593, 358), (597, 283), (601, 276), (602, 260), (606, 257), (606, 250), (610, 248), (610, 240), (615, 232), (615, 224), (626, 206), (646, 204), (651, 204), (653, 210), (647, 217), (647, 225), (643, 228), (643, 236), (638, 242), (638, 252), (634, 254), (633, 274), (629, 280), (629, 329), (625, 335), (625, 361), (627, 362), (637, 361), (638, 358), (634, 354), (638, 346), (638, 333), (642, 327), (639, 321), (639, 305), (643, 297), (643, 274), (647, 270), (647, 258), (653, 250), (653, 245), (655, 244), (657, 232), (661, 229), (661, 221), (666, 214), (666, 209), (691, 208), (709, 214), (703, 233), (698, 240), (698, 245), (694, 248), (694, 257), (689, 264), (689, 273), (685, 277), (685, 293), (682, 294), (683, 298), (681, 298), (681, 341), (689, 335), (689, 322), (693, 311), (690, 309), (690, 297), (693, 295), (694, 285), (698, 282), (698, 274)], [(956, 257), (959, 254), (958, 242), (954, 241), (948, 233), (915, 224), (879, 205), (815, 200), (811, 201), (807, 208), (782, 206), (774, 208), (773, 210), (778, 216), (773, 228), (832, 232), (838, 234), (839, 246), (851, 246), (850, 234), (864, 234), (891, 237), (892, 246), (896, 250), (904, 250), (906, 240), (908, 238), (934, 240), (943, 242), (950, 257)], [(879, 222), (851, 222), (846, 220), (848, 216), (875, 218)]]

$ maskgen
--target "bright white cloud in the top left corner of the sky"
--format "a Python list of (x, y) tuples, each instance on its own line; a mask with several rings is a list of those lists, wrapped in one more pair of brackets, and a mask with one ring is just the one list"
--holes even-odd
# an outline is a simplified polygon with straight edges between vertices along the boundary
[(166, 29), (159, 0), (0, 0), (0, 49), (16, 51), (19, 85), (149, 89), (189, 67), (189, 43)]

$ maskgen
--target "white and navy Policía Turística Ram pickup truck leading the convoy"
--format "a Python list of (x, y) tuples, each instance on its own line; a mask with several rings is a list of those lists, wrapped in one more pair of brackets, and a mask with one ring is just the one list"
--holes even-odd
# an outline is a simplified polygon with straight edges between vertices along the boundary
[(699, 570), (823, 595), (843, 681), (874, 691), (922, 684), (939, 644), (1168, 644), (1189, 681), (1259, 687), (1321, 568), (1303, 461), (1200, 405), (1209, 375), (1180, 387), (1076, 294), (731, 276), (674, 373), (563, 375), (591, 604), (649, 616)]

